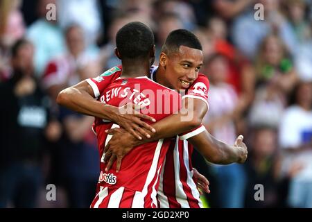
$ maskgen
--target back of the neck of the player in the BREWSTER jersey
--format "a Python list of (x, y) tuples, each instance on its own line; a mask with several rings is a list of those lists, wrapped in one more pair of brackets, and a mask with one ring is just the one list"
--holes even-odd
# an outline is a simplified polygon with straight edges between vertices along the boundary
[(121, 76), (123, 77), (146, 76), (150, 71), (150, 62), (148, 60), (126, 60), (122, 62), (122, 66)]

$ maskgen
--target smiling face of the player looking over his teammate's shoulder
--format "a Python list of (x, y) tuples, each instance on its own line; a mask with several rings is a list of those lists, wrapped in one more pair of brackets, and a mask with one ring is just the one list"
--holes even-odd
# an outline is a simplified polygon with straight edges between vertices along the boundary
[(176, 90), (189, 88), (198, 77), (203, 59), (201, 50), (187, 46), (180, 46), (179, 51), (168, 56), (162, 53), (159, 65), (165, 71), (166, 87)]

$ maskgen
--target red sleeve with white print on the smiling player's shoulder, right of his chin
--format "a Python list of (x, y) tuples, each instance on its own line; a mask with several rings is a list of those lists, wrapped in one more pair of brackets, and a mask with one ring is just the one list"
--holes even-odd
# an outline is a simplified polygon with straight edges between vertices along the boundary
[(182, 97), (184, 98), (194, 98), (200, 99), (204, 101), (207, 106), (208, 104), (208, 91), (209, 91), (209, 80), (207, 76), (203, 74), (199, 74), (198, 78), (194, 81), (194, 83), (187, 90), (187, 94)]

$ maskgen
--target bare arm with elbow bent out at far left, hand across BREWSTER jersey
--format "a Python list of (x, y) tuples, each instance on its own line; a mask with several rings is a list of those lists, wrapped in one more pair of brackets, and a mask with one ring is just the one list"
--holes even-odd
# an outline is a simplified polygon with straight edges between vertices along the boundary
[[(137, 112), (132, 112), (133, 114), (121, 114), (119, 109), (124, 109), (123, 107), (117, 108), (94, 99), (100, 93), (98, 89), (97, 91), (94, 89), (96, 87), (94, 85), (95, 83), (92, 87), (93, 82), (90, 83), (90, 81), (92, 80), (83, 80), (76, 85), (63, 89), (58, 94), (57, 103), (82, 114), (113, 121), (128, 130), (137, 139), (141, 139), (141, 136), (137, 132), (146, 137), (150, 137), (146, 131), (155, 132), (153, 127), (141, 121), (141, 119), (148, 119), (155, 122), (155, 119), (152, 117)], [(132, 109), (136, 110), (137, 108), (135, 105), (132, 105)]]

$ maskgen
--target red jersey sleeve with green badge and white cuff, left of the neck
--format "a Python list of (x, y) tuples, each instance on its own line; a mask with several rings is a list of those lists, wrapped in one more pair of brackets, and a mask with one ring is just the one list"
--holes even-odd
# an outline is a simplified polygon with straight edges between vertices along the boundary
[(119, 78), (121, 76), (121, 69), (121, 66), (112, 67), (111, 69), (108, 69), (96, 78), (87, 79), (87, 83), (89, 83), (89, 85), (93, 89), (95, 98), (102, 94), (103, 90), (107, 87), (107, 85), (110, 85), (110, 83), (116, 80), (116, 78)]

